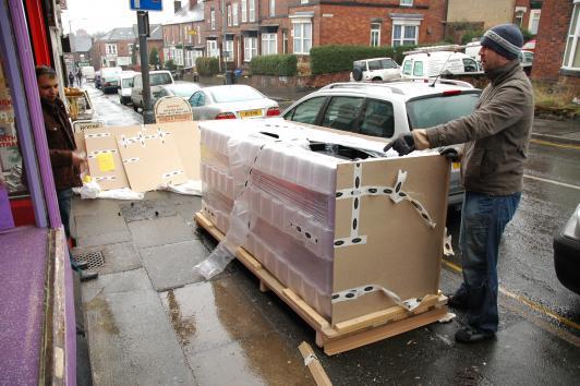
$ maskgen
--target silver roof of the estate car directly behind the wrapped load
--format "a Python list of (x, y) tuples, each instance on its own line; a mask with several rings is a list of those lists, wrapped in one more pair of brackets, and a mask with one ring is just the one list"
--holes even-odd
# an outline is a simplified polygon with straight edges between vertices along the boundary
[(438, 95), (448, 91), (464, 91), (464, 92), (479, 92), (478, 88), (473, 88), (469, 83), (438, 80), (432, 87), (433, 81), (425, 82), (425, 80), (399, 80), (386, 83), (334, 83), (326, 87), (321, 88), (313, 94), (359, 94), (362, 96), (371, 96), (377, 98), (384, 98), (385, 93), (390, 93), (394, 98), (401, 100), (409, 100), (416, 97), (423, 97), (428, 95)]

